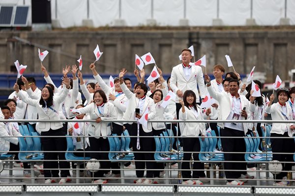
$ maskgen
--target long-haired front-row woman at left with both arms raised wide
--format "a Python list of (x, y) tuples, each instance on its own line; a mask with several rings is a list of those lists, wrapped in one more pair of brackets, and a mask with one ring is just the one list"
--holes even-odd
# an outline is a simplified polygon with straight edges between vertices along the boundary
[[(70, 89), (70, 80), (67, 76), (63, 77), (62, 83), (64, 89), (59, 96), (53, 95), (53, 90), (50, 87), (43, 87), (41, 92), (41, 98), (31, 99), (26, 97), (22, 91), (19, 90), (18, 85), (15, 83), (14, 90), (16, 95), (21, 98), (25, 103), (35, 106), (36, 112), (40, 120), (59, 120), (59, 106), (64, 101)], [(41, 136), (64, 136), (62, 123), (57, 122), (40, 122), (36, 123), (36, 130), (41, 133)], [(45, 183), (56, 182), (56, 178), (59, 178), (59, 170), (48, 169), (60, 169), (60, 175), (62, 179), (60, 184), (66, 182), (66, 177), (69, 169), (68, 163), (65, 161), (65, 152), (47, 152), (47, 151), (66, 151), (66, 139), (65, 137), (42, 137), (41, 143), (44, 150), (44, 177), (47, 178)], [(59, 164), (56, 161), (48, 160), (61, 160)], [(53, 179), (51, 179), (53, 178)]]

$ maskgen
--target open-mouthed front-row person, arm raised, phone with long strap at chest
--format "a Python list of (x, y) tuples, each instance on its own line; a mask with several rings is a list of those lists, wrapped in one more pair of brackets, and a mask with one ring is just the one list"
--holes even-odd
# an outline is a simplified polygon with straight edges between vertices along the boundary
[[(119, 73), (119, 84), (125, 96), (129, 100), (129, 104), (122, 117), (122, 120), (137, 120), (137, 123), (131, 123), (131, 145), (135, 157), (135, 168), (137, 180), (136, 184), (151, 184), (153, 177), (154, 153), (150, 152), (154, 149), (154, 139), (152, 125), (148, 120), (154, 119), (155, 109), (154, 101), (147, 97), (148, 87), (144, 83), (138, 83), (135, 86), (135, 91), (132, 93), (124, 83), (123, 76), (127, 71), (123, 68)], [(149, 136), (149, 137), (140, 137)], [(149, 151), (145, 153), (137, 153), (138, 151)], [(147, 178), (144, 179), (144, 170), (147, 166)]]

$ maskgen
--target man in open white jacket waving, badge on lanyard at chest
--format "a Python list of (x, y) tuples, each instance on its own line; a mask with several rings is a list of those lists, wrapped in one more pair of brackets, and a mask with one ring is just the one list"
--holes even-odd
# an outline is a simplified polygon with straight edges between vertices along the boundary
[[(218, 120), (246, 120), (250, 117), (250, 104), (248, 99), (238, 94), (239, 82), (236, 79), (229, 81), (230, 91), (217, 92), (211, 85), (210, 77), (206, 74), (205, 81), (207, 82), (207, 90), (209, 95), (216, 99), (219, 103)], [(243, 136), (247, 133), (248, 127), (246, 123), (218, 123), (220, 126), (220, 136), (228, 137), (221, 138), (221, 144), (224, 152), (245, 152), (245, 142)], [(231, 138), (240, 137), (240, 138)], [(228, 178), (227, 185), (243, 185), (248, 178), (254, 178), (247, 173), (232, 172), (230, 170), (246, 170), (246, 163), (243, 153), (224, 153), (225, 161), (241, 161), (241, 163), (225, 162), (224, 169)], [(236, 180), (230, 180), (230, 178)], [(237, 179), (241, 179), (237, 180)]]

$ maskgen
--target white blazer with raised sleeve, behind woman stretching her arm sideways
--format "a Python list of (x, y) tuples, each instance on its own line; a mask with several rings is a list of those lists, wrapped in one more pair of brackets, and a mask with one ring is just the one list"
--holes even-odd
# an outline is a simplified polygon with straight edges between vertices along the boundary
[[(105, 92), (107, 98), (109, 98), (110, 93), (116, 96), (116, 91), (115, 91), (115, 87), (109, 87), (104, 81), (103, 79), (100, 77), (99, 74), (97, 75), (93, 75), (93, 77), (95, 78), (95, 80), (98, 82), (100, 88), (103, 90), (103, 92)], [(122, 94), (120, 96), (118, 96), (114, 101), (113, 100), (109, 100), (111, 103), (113, 103), (116, 107), (116, 111), (117, 111), (117, 119), (121, 120), (124, 112), (126, 111), (126, 106), (128, 105), (129, 101), (128, 98), (125, 96), (125, 94)], [(116, 123), (119, 125), (123, 125), (122, 123)]]

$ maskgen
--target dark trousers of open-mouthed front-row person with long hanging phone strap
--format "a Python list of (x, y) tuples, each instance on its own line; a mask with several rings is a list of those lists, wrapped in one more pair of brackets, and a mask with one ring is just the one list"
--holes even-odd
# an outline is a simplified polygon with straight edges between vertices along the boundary
[[(137, 136), (137, 123), (132, 123), (130, 135)], [(149, 133), (146, 133), (143, 130), (142, 125), (140, 124), (139, 136), (151, 136), (151, 137), (140, 138), (140, 149), (137, 149), (137, 137), (131, 138), (131, 144), (132, 144), (134, 158), (135, 158), (136, 176), (138, 178), (144, 177), (144, 173), (145, 173), (144, 169), (145, 169), (145, 166), (147, 166), (147, 178), (152, 178), (155, 164), (154, 162), (151, 162), (149, 160), (154, 160), (154, 153), (153, 152), (142, 153), (141, 151), (154, 151), (155, 141), (154, 141), (154, 138), (152, 137), (153, 133), (152, 131)], [(139, 161), (139, 160), (144, 160), (144, 161)]]

